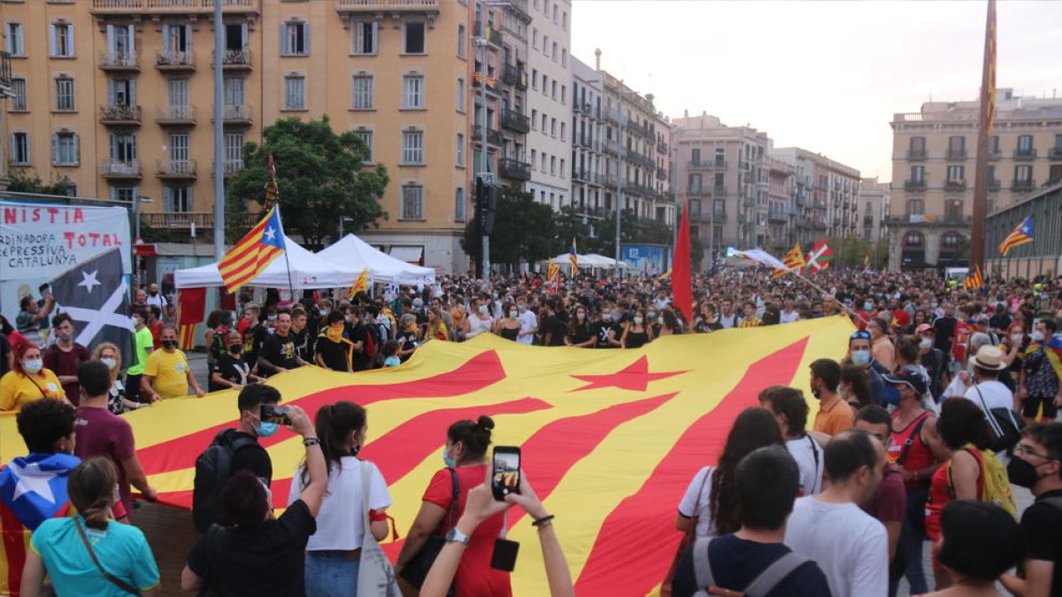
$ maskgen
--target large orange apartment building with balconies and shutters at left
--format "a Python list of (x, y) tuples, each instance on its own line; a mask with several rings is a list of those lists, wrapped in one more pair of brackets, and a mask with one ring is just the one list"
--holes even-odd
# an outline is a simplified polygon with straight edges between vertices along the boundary
[[(242, 168), (244, 143), (260, 140), (264, 126), (327, 115), (336, 131), (357, 132), (372, 150), (369, 165), (391, 176), (379, 198), (388, 218), (363, 237), (402, 259), (466, 269), (459, 239), (470, 217), (469, 104), (481, 71), (472, 55), (475, 3), (222, 1), (225, 175)], [(82, 197), (151, 198), (150, 225), (209, 238), (212, 11), (210, 1), (4, 0), (10, 166), (45, 181), (66, 176)], [(498, 18), (500, 30), (519, 28)], [(518, 87), (506, 66), (518, 72), (520, 55), (494, 44), (496, 31), (485, 37), (504, 61), (486, 81), (500, 70)], [(507, 99), (523, 107), (518, 92), (499, 92), (496, 115), (506, 115)], [(518, 136), (507, 139), (497, 148), (519, 156)], [(277, 172), (284, 177), (282, 163)]]

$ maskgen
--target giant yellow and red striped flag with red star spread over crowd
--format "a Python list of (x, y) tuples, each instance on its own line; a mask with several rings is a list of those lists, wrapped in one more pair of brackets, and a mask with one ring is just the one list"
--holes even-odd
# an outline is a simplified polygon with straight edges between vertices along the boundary
[[(337, 400), (367, 409), (370, 437), (359, 456), (383, 473), (402, 536), (444, 466), (447, 427), (493, 416), (494, 444), (523, 448), (527, 478), (556, 516), (577, 594), (647, 595), (681, 539), (679, 500), (702, 466), (717, 463), (737, 414), (775, 383), (802, 388), (813, 412), (808, 366), (842, 357), (853, 330), (836, 317), (668, 336), (628, 351), (526, 346), (484, 334), (464, 343), (431, 340), (399, 368), (350, 374), (307, 366), (269, 385), (282, 404), (311, 414)], [(236, 396), (226, 390), (162, 400), (124, 415), (160, 501), (190, 508), (195, 457), (220, 429), (237, 425)], [(305, 448), (286, 430), (262, 445), (282, 508)], [(24, 451), (10, 419), (0, 420), (0, 449)], [(535, 530), (518, 510), (509, 524), (509, 539), (524, 546), (515, 595), (548, 595)], [(384, 544), (392, 558), (400, 547), (400, 540)]]

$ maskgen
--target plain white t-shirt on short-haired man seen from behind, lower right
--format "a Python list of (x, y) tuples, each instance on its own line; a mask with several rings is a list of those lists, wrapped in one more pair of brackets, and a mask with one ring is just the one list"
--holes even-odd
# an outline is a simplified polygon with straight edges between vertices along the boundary
[(786, 525), (786, 545), (815, 560), (834, 597), (889, 593), (889, 545), (885, 527), (858, 506), (802, 497)]

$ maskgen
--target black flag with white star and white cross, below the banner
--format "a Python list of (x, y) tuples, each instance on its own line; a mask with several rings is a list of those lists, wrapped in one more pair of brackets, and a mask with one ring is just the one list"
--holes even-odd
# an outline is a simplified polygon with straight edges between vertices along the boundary
[(67, 270), (52, 280), (52, 293), (62, 312), (74, 321), (75, 342), (89, 351), (112, 342), (121, 351), (123, 369), (136, 364), (129, 286), (118, 249)]

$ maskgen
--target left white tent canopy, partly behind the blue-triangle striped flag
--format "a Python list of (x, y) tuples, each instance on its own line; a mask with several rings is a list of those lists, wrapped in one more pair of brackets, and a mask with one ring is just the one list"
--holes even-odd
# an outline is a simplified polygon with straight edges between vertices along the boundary
[[(361, 270), (340, 266), (310, 253), (289, 237), (284, 238), (287, 259), (281, 255), (266, 270), (245, 286), (262, 288), (288, 288), (305, 290), (311, 288), (343, 288), (354, 284)], [(289, 277), (289, 266), (291, 274)], [(223, 286), (218, 263), (209, 263), (173, 274), (177, 288), (211, 288)]]

